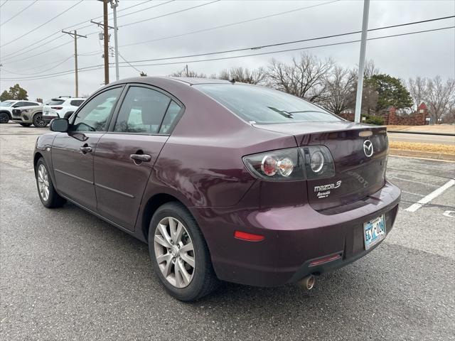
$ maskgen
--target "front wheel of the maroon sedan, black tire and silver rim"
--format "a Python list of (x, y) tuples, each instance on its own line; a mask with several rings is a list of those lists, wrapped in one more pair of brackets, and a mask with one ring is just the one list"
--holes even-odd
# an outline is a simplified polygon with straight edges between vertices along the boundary
[(36, 188), (38, 195), (44, 207), (55, 208), (61, 207), (66, 200), (60, 197), (55, 191), (52, 178), (50, 178), (48, 166), (45, 164), (44, 158), (40, 158), (36, 163), (35, 169)]

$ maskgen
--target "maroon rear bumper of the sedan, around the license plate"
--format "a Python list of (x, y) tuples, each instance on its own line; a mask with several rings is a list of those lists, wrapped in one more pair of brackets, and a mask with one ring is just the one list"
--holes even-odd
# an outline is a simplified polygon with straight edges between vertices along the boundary
[[(317, 212), (310, 205), (267, 210), (192, 207), (192, 211), (196, 211), (218, 278), (252, 286), (280, 286), (308, 274), (341, 268), (375, 249), (378, 244), (365, 250), (363, 223), (384, 215), (388, 234), (400, 194), (399, 188), (386, 182), (377, 193), (357, 205), (338, 207), (337, 212)], [(237, 230), (264, 239), (235, 239)], [(331, 256), (332, 261), (311, 266), (315, 260), (318, 263)]]

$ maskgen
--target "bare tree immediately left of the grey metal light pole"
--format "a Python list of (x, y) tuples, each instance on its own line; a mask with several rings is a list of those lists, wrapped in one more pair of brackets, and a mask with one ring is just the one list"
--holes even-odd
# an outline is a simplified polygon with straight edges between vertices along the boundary
[(355, 82), (357, 72), (336, 66), (326, 80), (326, 98), (322, 105), (333, 114), (341, 114), (346, 109), (353, 108), (355, 102)]

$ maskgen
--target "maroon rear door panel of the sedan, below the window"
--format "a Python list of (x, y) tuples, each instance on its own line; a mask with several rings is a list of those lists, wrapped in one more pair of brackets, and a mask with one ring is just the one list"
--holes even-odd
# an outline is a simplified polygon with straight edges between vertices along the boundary
[[(95, 151), (97, 212), (122, 227), (134, 230), (142, 195), (168, 136), (108, 133)], [(134, 161), (132, 154), (151, 156)]]

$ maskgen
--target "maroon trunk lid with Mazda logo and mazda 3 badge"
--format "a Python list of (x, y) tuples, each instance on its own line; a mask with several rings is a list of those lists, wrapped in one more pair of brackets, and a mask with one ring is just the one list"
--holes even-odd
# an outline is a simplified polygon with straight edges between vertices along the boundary
[[(361, 200), (380, 190), (385, 183), (388, 148), (385, 126), (348, 121), (255, 126), (294, 135), (299, 146), (322, 145), (329, 149), (335, 163), (335, 175), (306, 180), (309, 204), (315, 210)], [(370, 144), (373, 146), (371, 156), (368, 155)]]

